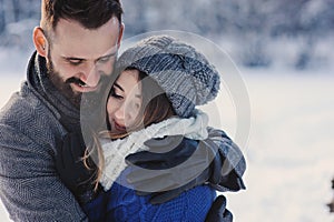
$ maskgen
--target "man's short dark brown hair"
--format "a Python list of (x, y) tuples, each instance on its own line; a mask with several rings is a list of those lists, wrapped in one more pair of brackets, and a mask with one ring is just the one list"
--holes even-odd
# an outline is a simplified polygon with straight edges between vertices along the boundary
[(121, 23), (119, 0), (41, 0), (41, 27), (50, 30), (59, 19), (75, 20), (87, 29), (97, 29), (116, 17)]

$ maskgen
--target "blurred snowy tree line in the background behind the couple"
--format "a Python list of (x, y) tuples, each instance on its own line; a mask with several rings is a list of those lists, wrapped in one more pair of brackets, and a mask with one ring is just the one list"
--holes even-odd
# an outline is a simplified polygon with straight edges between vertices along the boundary
[[(126, 37), (174, 29), (218, 42), (228, 40), (239, 63), (250, 67), (271, 65), (275, 60), (271, 44), (282, 39), (302, 41), (292, 65), (307, 68), (317, 57), (317, 44), (325, 36), (334, 34), (333, 0), (121, 0), (121, 3)], [(13, 29), (32, 30), (33, 27), (27, 26), (39, 18), (40, 1), (0, 0), (0, 44), (8, 42), (13, 32), (16, 37), (22, 36), (16, 41), (27, 38), (27, 31), (20, 33)]]

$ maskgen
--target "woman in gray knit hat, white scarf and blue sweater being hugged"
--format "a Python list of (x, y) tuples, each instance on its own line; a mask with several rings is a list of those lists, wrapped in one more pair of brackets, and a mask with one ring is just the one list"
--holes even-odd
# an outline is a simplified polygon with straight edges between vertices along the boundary
[[(175, 170), (179, 164), (197, 161), (196, 157), (206, 151), (200, 147), (207, 145), (203, 141), (209, 132), (207, 115), (195, 107), (215, 99), (218, 72), (193, 47), (166, 36), (145, 39), (126, 50), (116, 70), (120, 74), (110, 90), (106, 109), (109, 130), (99, 134), (92, 149), (99, 157), (96, 188), (100, 184), (104, 191), (84, 205), (89, 220), (205, 221), (216, 196), (213, 188), (199, 185), (154, 205), (149, 203), (150, 196), (137, 195), (127, 183), (126, 176), (131, 172), (126, 169), (125, 157), (146, 150), (145, 142), (149, 139), (155, 138), (159, 143), (170, 137), (170, 152), (185, 147), (194, 150), (188, 160), (175, 160)], [(197, 169), (198, 174), (207, 164)], [(139, 167), (150, 169), (149, 164)], [(180, 174), (177, 185), (189, 182), (187, 174)], [(175, 186), (157, 188), (158, 191), (168, 189)], [(143, 188), (140, 192), (151, 191)]]

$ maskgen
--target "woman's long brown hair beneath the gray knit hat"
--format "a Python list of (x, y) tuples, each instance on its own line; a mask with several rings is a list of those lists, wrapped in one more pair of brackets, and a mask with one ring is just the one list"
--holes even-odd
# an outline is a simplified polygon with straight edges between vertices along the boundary
[[(125, 70), (137, 70), (135, 68), (126, 68)], [(139, 71), (139, 70), (138, 70)], [(116, 134), (110, 131), (101, 131), (97, 134), (94, 134), (94, 144), (87, 149), (86, 154), (84, 157), (85, 164), (88, 169), (91, 169), (91, 164), (88, 163), (89, 157), (95, 157), (96, 159), (96, 180), (94, 181), (96, 184), (96, 189), (98, 188), (99, 179), (101, 178), (102, 169), (105, 165), (104, 155), (101, 144), (99, 139), (120, 139), (129, 135), (131, 132), (147, 128), (153, 123), (161, 122), (173, 115), (175, 115), (175, 111), (169, 102), (164, 90), (158, 85), (158, 83), (148, 77), (145, 72), (139, 71), (138, 75), (139, 81), (141, 82), (141, 108), (140, 112), (136, 119), (136, 123), (131, 128), (127, 128), (126, 133)], [(109, 97), (110, 95), (109, 93)]]

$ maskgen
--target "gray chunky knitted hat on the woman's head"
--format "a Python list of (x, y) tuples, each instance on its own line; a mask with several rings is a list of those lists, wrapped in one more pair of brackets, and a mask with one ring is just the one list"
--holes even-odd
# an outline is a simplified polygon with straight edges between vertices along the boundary
[(166, 92), (175, 112), (191, 115), (218, 93), (219, 73), (195, 48), (168, 36), (144, 39), (118, 59), (118, 70), (136, 68), (153, 78)]

